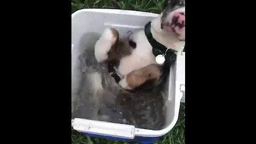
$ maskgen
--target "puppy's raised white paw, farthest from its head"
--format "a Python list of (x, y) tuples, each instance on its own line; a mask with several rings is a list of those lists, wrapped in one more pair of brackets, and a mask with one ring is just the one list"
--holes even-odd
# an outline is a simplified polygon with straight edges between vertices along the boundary
[(103, 31), (100, 39), (94, 46), (94, 55), (98, 62), (103, 62), (108, 58), (108, 51), (111, 46), (115, 43), (116, 37), (114, 37), (110, 28)]

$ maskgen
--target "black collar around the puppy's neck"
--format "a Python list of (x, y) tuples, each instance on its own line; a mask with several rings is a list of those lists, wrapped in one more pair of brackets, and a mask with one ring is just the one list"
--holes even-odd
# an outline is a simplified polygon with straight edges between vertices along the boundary
[(158, 43), (155, 38), (153, 38), (153, 35), (151, 33), (151, 22), (148, 22), (147, 25), (145, 26), (145, 35), (147, 36), (148, 42), (150, 45), (153, 47), (153, 54), (155, 57), (159, 54), (167, 54), (167, 53), (175, 53), (177, 51), (172, 50), (172, 49), (167, 49), (163, 44)]

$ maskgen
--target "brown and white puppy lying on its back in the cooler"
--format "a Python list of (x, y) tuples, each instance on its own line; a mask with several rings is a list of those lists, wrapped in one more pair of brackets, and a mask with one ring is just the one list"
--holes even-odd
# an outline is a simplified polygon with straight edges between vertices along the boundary
[[(171, 0), (159, 17), (151, 21), (151, 34), (158, 42), (174, 51), (185, 46), (185, 0)], [(135, 31), (122, 41), (116, 29), (107, 28), (94, 47), (98, 62), (108, 62), (115, 69), (117, 83), (126, 90), (152, 87), (160, 82), (168, 67), (159, 65), (144, 30)], [(110, 67), (111, 68), (111, 67)], [(150, 89), (149, 88), (149, 89)]]

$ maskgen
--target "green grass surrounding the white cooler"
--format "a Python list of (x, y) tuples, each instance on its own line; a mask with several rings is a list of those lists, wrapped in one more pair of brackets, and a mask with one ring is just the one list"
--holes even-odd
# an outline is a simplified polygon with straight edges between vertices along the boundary
[[(160, 13), (167, 0), (71, 0), (71, 13), (84, 8), (107, 8), (136, 10)], [(85, 137), (77, 132), (71, 134), (72, 144), (130, 144), (136, 142), (122, 142), (99, 138)], [(185, 144), (185, 104), (181, 109), (177, 124), (173, 129), (156, 142), (157, 144)]]

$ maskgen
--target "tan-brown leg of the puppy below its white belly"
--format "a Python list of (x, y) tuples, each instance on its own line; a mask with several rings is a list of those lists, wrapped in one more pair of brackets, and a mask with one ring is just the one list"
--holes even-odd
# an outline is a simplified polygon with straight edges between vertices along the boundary
[(151, 64), (141, 69), (133, 70), (131, 73), (127, 74), (126, 81), (131, 89), (135, 89), (150, 79), (158, 81), (161, 74), (161, 66)]

